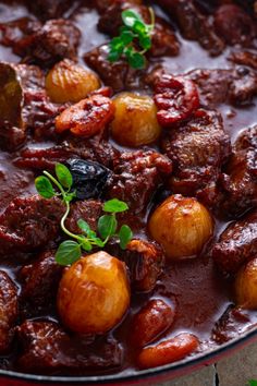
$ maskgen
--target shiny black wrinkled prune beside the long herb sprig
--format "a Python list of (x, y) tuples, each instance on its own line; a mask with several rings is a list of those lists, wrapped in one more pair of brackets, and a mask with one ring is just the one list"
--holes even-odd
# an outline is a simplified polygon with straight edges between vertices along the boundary
[(84, 159), (66, 161), (72, 177), (73, 188), (78, 200), (99, 198), (106, 188), (111, 171), (105, 166)]

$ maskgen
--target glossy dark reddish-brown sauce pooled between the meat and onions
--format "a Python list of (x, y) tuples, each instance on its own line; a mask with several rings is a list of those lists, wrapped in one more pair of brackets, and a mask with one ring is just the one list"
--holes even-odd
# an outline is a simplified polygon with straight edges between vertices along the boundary
[[(83, 55), (93, 47), (105, 43), (107, 37), (97, 31), (98, 14), (96, 11), (86, 7), (76, 11), (75, 2), (74, 10), (72, 20), (81, 28), (83, 35), (78, 50), (79, 61), (85, 65), (82, 59)], [(157, 12), (163, 15), (158, 8)], [(27, 14), (27, 9), (21, 4), (0, 4), (0, 22), (12, 21)], [(184, 40), (181, 36), (180, 41), (181, 55), (176, 58), (162, 59), (169, 72), (178, 74), (196, 68), (230, 68), (230, 62), (227, 60), (228, 51), (224, 51), (218, 58), (211, 59), (208, 52), (201, 49), (197, 43)], [(1, 47), (0, 60), (17, 62), (20, 58), (14, 56), (11, 49)], [(222, 112), (225, 130), (231, 135), (232, 141), (237, 137), (243, 129), (255, 123), (257, 116), (257, 107), (255, 105), (240, 109), (224, 105), (219, 110)], [(42, 143), (33, 145), (35, 147), (49, 146), (49, 144)], [(121, 149), (121, 146), (119, 146), (119, 149)], [(34, 173), (16, 168), (10, 154), (0, 153), (0, 210), (2, 212), (14, 196), (33, 192), (35, 192)], [(217, 219), (215, 238), (225, 226), (227, 224)], [(11, 263), (1, 265), (1, 268), (8, 269), (12, 277), (17, 269), (16, 266), (12, 267)], [(167, 333), (167, 337), (174, 336), (178, 331), (193, 331), (203, 341), (206, 341), (210, 337), (215, 322), (233, 301), (233, 287), (221, 276), (216, 269), (212, 260), (205, 253), (197, 260), (183, 261), (172, 264), (172, 266), (167, 266), (154, 293), (134, 295), (130, 315), (113, 331), (114, 336), (118, 336), (124, 347), (126, 347), (124, 372), (127, 372), (127, 367), (130, 370), (134, 369), (134, 352), (127, 348), (130, 339), (127, 328), (131, 317), (149, 298), (155, 297), (161, 297), (166, 301), (176, 304), (175, 322)], [(54, 315), (46, 316), (54, 318)], [(257, 323), (257, 313), (252, 313), (252, 319), (253, 324)], [(163, 339), (163, 336), (161, 339)]]

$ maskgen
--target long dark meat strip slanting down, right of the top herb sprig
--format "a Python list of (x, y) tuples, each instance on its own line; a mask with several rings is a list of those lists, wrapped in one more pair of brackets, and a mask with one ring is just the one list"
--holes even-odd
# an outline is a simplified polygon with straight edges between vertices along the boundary
[(186, 39), (197, 40), (213, 57), (223, 51), (224, 43), (216, 34), (211, 19), (200, 13), (193, 0), (158, 0), (157, 3), (175, 20)]

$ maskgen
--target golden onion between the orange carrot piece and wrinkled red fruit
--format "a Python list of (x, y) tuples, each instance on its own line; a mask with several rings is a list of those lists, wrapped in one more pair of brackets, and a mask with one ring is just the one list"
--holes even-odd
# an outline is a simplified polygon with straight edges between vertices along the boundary
[(113, 99), (114, 119), (111, 134), (121, 145), (138, 147), (155, 142), (161, 128), (157, 121), (157, 107), (149, 96), (122, 93)]

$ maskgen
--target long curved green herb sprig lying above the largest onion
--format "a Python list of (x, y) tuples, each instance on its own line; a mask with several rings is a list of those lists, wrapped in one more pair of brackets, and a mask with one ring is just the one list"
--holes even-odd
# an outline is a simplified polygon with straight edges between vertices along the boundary
[(54, 171), (56, 177), (48, 171), (44, 171), (44, 176), (35, 180), (35, 186), (41, 197), (47, 200), (61, 197), (66, 207), (61, 219), (61, 229), (72, 240), (65, 240), (59, 245), (56, 253), (57, 263), (60, 265), (73, 264), (81, 257), (83, 251), (90, 252), (96, 246), (103, 248), (113, 237), (118, 238), (120, 246), (125, 249), (133, 233), (126, 225), (118, 229), (117, 214), (128, 209), (126, 203), (113, 198), (103, 204), (102, 209), (106, 215), (98, 219), (99, 236), (91, 230), (84, 219), (77, 221), (82, 233), (75, 234), (65, 226), (66, 218), (71, 212), (71, 202), (76, 197), (76, 193), (72, 191), (73, 178), (68, 167), (63, 164), (57, 164)]

